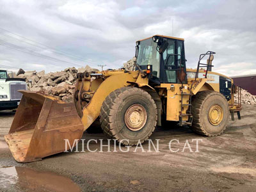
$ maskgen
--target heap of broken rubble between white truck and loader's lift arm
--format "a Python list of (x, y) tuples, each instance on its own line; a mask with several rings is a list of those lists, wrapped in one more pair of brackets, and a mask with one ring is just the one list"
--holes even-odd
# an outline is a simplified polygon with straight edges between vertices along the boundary
[(47, 95), (53, 95), (65, 102), (72, 102), (74, 89), (78, 72), (97, 71), (88, 65), (83, 68), (66, 68), (61, 72), (50, 72), (45, 74), (45, 71), (36, 72), (20, 70), (17, 77), (25, 78), (28, 84), (28, 89), (34, 92), (43, 92)]

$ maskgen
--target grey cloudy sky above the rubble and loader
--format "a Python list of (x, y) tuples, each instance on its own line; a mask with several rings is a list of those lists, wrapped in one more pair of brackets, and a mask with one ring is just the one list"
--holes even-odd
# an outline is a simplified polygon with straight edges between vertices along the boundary
[(256, 74), (255, 10), (253, 0), (0, 0), (0, 65), (118, 68), (136, 40), (159, 34), (185, 38), (187, 67), (214, 51), (214, 71)]

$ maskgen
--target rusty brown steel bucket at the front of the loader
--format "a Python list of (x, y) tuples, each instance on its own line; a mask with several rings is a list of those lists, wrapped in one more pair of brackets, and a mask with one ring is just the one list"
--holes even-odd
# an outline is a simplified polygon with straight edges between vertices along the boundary
[(83, 124), (74, 103), (43, 93), (20, 92), (19, 108), (9, 134), (4, 136), (16, 161), (40, 160), (70, 149), (75, 140), (81, 139)]

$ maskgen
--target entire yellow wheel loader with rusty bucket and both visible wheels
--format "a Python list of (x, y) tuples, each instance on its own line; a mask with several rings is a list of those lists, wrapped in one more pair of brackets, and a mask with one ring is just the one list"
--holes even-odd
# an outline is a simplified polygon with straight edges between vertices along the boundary
[(154, 35), (139, 40), (134, 70), (77, 74), (74, 103), (21, 91), (5, 140), (16, 161), (29, 162), (63, 152), (65, 140), (72, 145), (97, 119), (104, 133), (123, 145), (142, 143), (166, 121), (204, 136), (220, 135), (230, 112), (232, 119), (234, 113), (240, 118), (241, 90), (229, 77), (211, 72), (213, 54), (201, 54), (192, 70), (186, 68), (184, 39)]

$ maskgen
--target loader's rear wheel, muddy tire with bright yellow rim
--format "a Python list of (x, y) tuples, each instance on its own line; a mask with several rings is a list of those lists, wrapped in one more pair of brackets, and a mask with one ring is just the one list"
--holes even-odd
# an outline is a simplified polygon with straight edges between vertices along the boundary
[(204, 136), (218, 136), (225, 131), (229, 118), (229, 107), (219, 92), (199, 92), (192, 101), (192, 129)]

